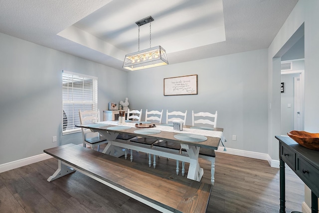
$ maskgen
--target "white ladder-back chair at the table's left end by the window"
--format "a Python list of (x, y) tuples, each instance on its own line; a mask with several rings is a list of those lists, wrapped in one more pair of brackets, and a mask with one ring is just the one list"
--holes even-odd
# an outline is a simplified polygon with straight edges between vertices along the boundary
[[(81, 124), (100, 122), (100, 110), (86, 110), (81, 111), (79, 109), (79, 117)], [(83, 146), (90, 146), (91, 149), (94, 149), (97, 146), (98, 151), (100, 151), (100, 144), (107, 143), (108, 141), (103, 135), (100, 135), (98, 132), (92, 132), (91, 129), (82, 128), (83, 136)]]

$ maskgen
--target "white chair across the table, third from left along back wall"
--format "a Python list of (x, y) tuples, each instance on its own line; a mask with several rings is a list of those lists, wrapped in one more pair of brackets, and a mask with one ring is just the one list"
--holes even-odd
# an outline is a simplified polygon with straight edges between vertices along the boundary
[[(181, 111), (168, 112), (168, 110), (166, 110), (166, 124), (172, 124), (174, 120), (179, 120), (179, 121), (183, 121), (183, 125), (185, 125), (186, 115), (187, 115), (187, 110), (185, 112), (181, 112)], [(159, 141), (157, 143), (154, 143), (153, 146), (173, 149), (181, 153), (181, 147), (180, 147), (180, 144), (178, 143), (169, 142), (169, 141)], [(156, 161), (156, 157), (154, 157), (154, 161)], [(154, 164), (156, 165), (156, 162), (154, 162)], [(179, 160), (176, 160), (176, 174), (177, 175), (179, 174)], [(185, 162), (182, 162), (182, 176), (184, 176), (184, 174), (185, 174)]]

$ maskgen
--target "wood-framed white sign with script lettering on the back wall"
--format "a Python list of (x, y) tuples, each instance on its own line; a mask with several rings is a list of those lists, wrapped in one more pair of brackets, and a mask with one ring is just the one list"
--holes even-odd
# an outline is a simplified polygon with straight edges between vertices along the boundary
[(197, 75), (164, 79), (164, 96), (197, 95)]

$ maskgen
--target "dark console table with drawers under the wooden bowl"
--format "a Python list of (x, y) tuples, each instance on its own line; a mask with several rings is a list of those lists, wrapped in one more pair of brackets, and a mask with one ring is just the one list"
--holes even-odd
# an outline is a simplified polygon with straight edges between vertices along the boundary
[(318, 213), (319, 151), (299, 145), (288, 136), (275, 136), (279, 140), (280, 159), (280, 213), (285, 213), (285, 163), (311, 189), (312, 213)]

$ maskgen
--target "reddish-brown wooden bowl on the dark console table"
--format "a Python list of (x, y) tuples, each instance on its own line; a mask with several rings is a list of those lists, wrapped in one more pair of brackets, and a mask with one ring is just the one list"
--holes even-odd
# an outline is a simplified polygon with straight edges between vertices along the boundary
[(319, 150), (319, 133), (293, 130), (287, 133), (300, 145), (313, 150)]

